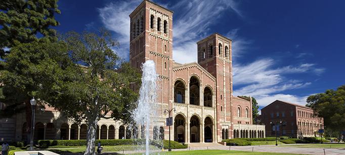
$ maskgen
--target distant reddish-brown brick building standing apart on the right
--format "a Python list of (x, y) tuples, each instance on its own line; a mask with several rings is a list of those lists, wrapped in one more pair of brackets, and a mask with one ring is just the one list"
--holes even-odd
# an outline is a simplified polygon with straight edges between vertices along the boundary
[(266, 136), (313, 137), (323, 129), (323, 119), (312, 108), (280, 100), (262, 108), (260, 120), (266, 126)]

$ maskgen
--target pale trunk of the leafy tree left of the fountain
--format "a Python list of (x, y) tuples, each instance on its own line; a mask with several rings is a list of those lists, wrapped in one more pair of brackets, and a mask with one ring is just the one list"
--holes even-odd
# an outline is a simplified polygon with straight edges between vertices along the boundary
[[(98, 114), (98, 113), (96, 113)], [(93, 114), (94, 115), (94, 114)], [(88, 134), (87, 134), (87, 148), (84, 155), (94, 155), (96, 146), (96, 130), (98, 117), (92, 117), (94, 119), (89, 119), (88, 121)]]

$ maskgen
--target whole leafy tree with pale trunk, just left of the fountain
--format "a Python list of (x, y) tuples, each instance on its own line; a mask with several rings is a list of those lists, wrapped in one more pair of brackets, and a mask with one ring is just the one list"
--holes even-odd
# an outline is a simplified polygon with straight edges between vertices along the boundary
[(68, 45), (74, 65), (42, 66), (40, 74), (52, 78), (42, 80), (39, 97), (67, 118), (87, 122), (84, 154), (95, 154), (97, 122), (110, 118), (110, 114), (115, 120), (130, 121), (129, 111), (138, 98), (138, 90), (131, 86), (140, 84), (141, 74), (127, 63), (114, 69), (120, 58), (111, 47), (118, 42), (111, 39), (108, 31), (69, 32), (63, 41)]

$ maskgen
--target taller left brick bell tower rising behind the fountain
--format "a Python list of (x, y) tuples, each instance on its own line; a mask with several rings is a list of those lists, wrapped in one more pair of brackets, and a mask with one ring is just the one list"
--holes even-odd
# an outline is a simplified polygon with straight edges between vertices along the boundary
[[(157, 117), (166, 118), (171, 92), (172, 70), (172, 14), (173, 12), (151, 1), (144, 0), (131, 14), (130, 63), (140, 69), (146, 60), (153, 60), (159, 75)], [(164, 94), (164, 95), (162, 95)], [(163, 106), (164, 105), (164, 106)]]

